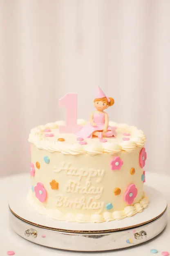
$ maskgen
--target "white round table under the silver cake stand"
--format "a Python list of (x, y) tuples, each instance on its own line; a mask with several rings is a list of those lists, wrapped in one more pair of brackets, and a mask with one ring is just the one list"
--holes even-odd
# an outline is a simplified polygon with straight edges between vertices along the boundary
[[(19, 235), (17, 235), (9, 226), (9, 209), (8, 209), (8, 202), (9, 199), (15, 190), (16, 186), (20, 184), (17, 183), (18, 176), (22, 176), (23, 178), (27, 178), (28, 174), (22, 175), (14, 175), (8, 176), (0, 179), (0, 197), (1, 197), (1, 214), (0, 214), (0, 255), (4, 256), (7, 255), (7, 251), (15, 251), (16, 256), (52, 256), (52, 255), (60, 255), (60, 256), (72, 256), (72, 255), (94, 255), (94, 254), (104, 254), (106, 256), (152, 256), (153, 254), (150, 253), (150, 249), (157, 249), (158, 253), (156, 254), (161, 255), (162, 251), (169, 251), (170, 253), (170, 214), (168, 208), (168, 224), (166, 229), (158, 235), (156, 238), (142, 243), (141, 245), (137, 245), (134, 247), (129, 247), (128, 249), (119, 249), (114, 251), (103, 251), (103, 252), (75, 252), (75, 251), (62, 251), (58, 249), (50, 249), (47, 247), (43, 247), (40, 245), (36, 245), (32, 242), (29, 242)], [(156, 188), (157, 190), (161, 191), (166, 200), (168, 205), (170, 204), (170, 176), (164, 176), (155, 173), (146, 173), (146, 184), (150, 185), (151, 187)], [(22, 191), (21, 191), (22, 193)]]

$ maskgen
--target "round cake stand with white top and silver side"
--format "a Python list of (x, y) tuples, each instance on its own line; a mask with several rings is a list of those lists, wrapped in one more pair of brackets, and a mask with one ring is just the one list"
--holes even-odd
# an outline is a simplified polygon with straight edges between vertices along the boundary
[(9, 202), (10, 225), (22, 238), (38, 245), (72, 251), (120, 249), (154, 238), (167, 224), (166, 199), (148, 186), (145, 186), (145, 193), (150, 204), (142, 213), (103, 223), (56, 221), (39, 215), (27, 203), (27, 192), (27, 186), (14, 192)]

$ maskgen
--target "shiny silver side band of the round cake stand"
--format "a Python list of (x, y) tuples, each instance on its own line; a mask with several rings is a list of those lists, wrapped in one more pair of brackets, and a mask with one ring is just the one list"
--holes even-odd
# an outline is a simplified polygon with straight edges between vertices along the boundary
[[(153, 222), (137, 227), (135, 230), (130, 229), (110, 233), (63, 233), (48, 229), (44, 230), (39, 227), (29, 226), (14, 216), (11, 212), (9, 213), (10, 225), (13, 228), (13, 231), (30, 242), (66, 251), (99, 252), (133, 247), (143, 242), (148, 242), (165, 229), (168, 211), (166, 210), (163, 215)], [(28, 230), (36, 233), (36, 237), (27, 237), (25, 232)], [(141, 232), (146, 233), (145, 239), (135, 239), (135, 235)], [(48, 237), (48, 239), (46, 240), (44, 237)], [(104, 242), (100, 242), (101, 240), (96, 238), (102, 238), (102, 241)], [(129, 240), (127, 240), (127, 238)], [(75, 243), (75, 239), (78, 241), (78, 244)]]

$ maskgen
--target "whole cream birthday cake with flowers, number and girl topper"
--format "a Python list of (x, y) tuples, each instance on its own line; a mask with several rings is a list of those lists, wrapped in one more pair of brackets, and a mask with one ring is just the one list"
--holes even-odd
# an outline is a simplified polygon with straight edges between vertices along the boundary
[(141, 213), (148, 206), (145, 135), (109, 121), (104, 110), (114, 100), (99, 87), (89, 121), (77, 120), (76, 104), (77, 95), (67, 94), (59, 100), (67, 107), (66, 121), (30, 132), (30, 205), (39, 214), (69, 222), (105, 222)]

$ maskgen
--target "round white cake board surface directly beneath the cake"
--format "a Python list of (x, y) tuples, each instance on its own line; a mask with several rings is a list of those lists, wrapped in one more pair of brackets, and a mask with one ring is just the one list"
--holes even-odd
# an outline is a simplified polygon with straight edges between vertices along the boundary
[(39, 224), (42, 227), (46, 227), (46, 229), (50, 228), (51, 230), (62, 230), (63, 232), (74, 231), (75, 233), (78, 231), (84, 233), (89, 231), (123, 231), (141, 226), (142, 223), (154, 221), (154, 219), (158, 219), (158, 217), (161, 216), (166, 210), (167, 201), (164, 195), (160, 191), (148, 185), (145, 188), (147, 188), (147, 196), (150, 198), (150, 203), (142, 213), (136, 213), (132, 217), (126, 217), (123, 220), (113, 220), (110, 222), (78, 223), (57, 221), (45, 215), (40, 215), (34, 211), (34, 209), (30, 208), (29, 204), (25, 203), (25, 193), (20, 194), (19, 192), (16, 192), (18, 196), (16, 197), (15, 194), (13, 200), (9, 202), (9, 208), (13, 211), (14, 215), (17, 215), (19, 219), (23, 219), (24, 222), (26, 221), (30, 224), (33, 223), (34, 226)]

